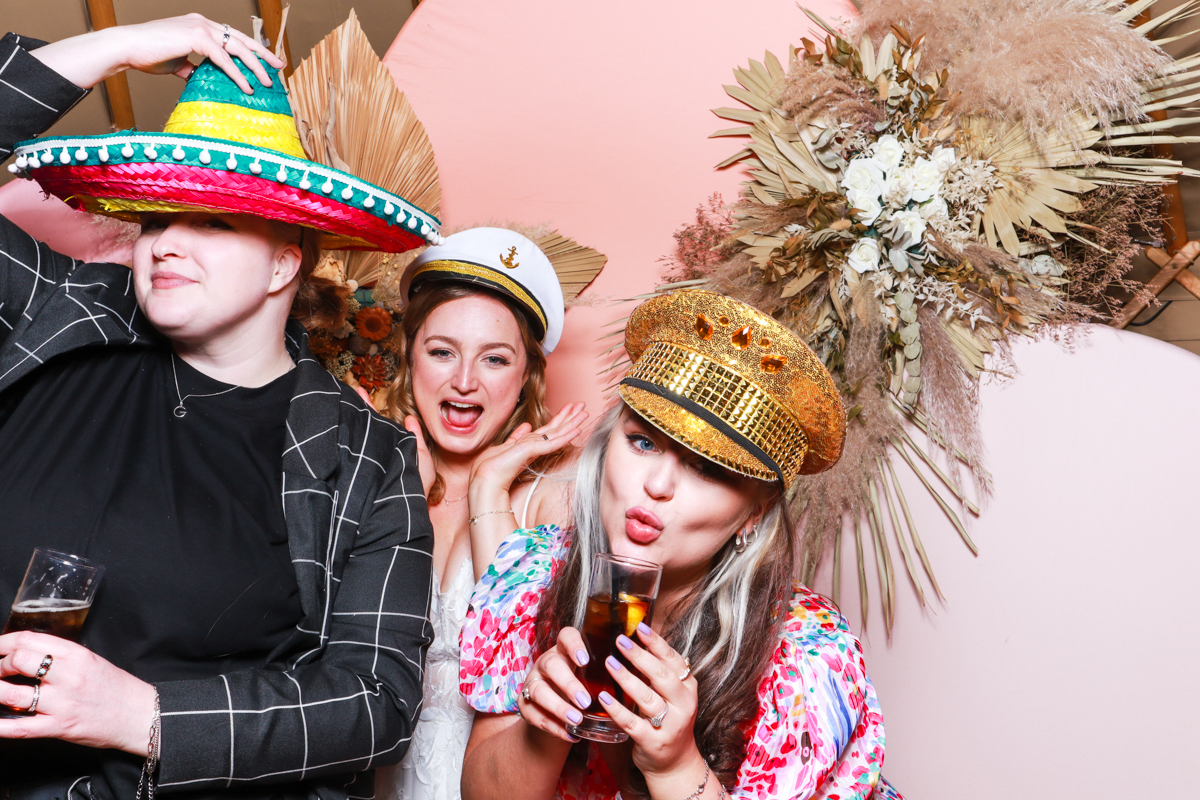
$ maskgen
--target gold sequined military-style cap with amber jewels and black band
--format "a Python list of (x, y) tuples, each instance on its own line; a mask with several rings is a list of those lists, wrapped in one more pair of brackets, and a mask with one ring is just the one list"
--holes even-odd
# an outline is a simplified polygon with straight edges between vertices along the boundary
[(736, 473), (790, 485), (841, 457), (846, 411), (829, 372), (762, 312), (703, 289), (647, 300), (625, 325), (625, 403)]

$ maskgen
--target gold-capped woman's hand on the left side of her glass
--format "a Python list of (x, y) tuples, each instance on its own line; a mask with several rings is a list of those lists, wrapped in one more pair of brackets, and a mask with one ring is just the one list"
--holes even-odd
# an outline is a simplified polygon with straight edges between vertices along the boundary
[(587, 663), (583, 636), (574, 627), (564, 627), (553, 649), (541, 654), (526, 673), (517, 699), (524, 721), (564, 741), (578, 741), (566, 732), (566, 723), (582, 722), (583, 711), (592, 705), (592, 696), (575, 675), (576, 668)]

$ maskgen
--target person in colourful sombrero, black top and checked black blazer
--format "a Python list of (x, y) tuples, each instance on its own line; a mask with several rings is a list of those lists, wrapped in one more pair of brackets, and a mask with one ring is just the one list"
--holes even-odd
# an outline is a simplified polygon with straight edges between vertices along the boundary
[[(206, 56), (194, 70), (190, 53)], [(132, 271), (0, 221), (0, 608), (34, 547), (107, 567), (79, 644), (0, 636), (5, 798), (370, 795), (421, 700), (432, 536), (412, 434), (312, 356), (322, 247), (440, 241), (310, 161), (262, 44), (198, 16), (0, 40), (0, 152), (140, 223)], [(125, 68), (163, 133), (20, 142)]]

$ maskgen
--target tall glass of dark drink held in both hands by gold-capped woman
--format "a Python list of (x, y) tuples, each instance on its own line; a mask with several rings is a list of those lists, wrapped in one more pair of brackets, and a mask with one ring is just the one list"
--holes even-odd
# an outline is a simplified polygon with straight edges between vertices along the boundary
[(589, 656), (582, 680), (592, 696), (592, 705), (583, 712), (580, 724), (566, 726), (572, 736), (607, 742), (629, 739), (629, 734), (617, 727), (600, 702), (600, 692), (608, 692), (618, 703), (630, 706), (625, 693), (608, 674), (605, 660), (613, 656), (622, 667), (634, 668), (625, 660), (625, 651), (617, 646), (617, 637), (624, 633), (636, 639), (637, 624), (650, 624), (661, 578), (662, 567), (650, 561), (610, 553), (600, 553), (593, 561), (582, 631)]

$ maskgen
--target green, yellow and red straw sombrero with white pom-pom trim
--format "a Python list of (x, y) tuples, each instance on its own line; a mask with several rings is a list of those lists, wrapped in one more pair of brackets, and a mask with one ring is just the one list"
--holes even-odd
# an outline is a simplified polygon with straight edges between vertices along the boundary
[(276, 70), (263, 64), (268, 88), (234, 64), (253, 95), (205, 60), (162, 133), (30, 139), (14, 149), (13, 172), (73, 207), (125, 219), (143, 211), (250, 213), (319, 230), (324, 249), (400, 253), (442, 242), (433, 215), (310, 161)]

